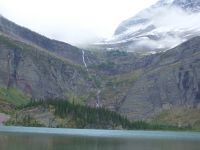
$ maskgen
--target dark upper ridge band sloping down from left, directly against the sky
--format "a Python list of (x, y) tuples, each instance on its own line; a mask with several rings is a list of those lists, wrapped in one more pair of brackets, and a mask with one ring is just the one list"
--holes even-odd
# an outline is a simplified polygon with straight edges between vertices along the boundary
[[(82, 50), (74, 47), (70, 44), (49, 39), (45, 36), (42, 36), (36, 32), (33, 32), (27, 28), (21, 27), (6, 18), (0, 16), (0, 31), (7, 35), (10, 35), (12, 38), (16, 38), (27, 44), (32, 44), (43, 48), (47, 51), (55, 53), (61, 57), (67, 58), (73, 63), (84, 65), (82, 61)], [(85, 52), (86, 62), (92, 64), (96, 62), (94, 55), (90, 52)]]

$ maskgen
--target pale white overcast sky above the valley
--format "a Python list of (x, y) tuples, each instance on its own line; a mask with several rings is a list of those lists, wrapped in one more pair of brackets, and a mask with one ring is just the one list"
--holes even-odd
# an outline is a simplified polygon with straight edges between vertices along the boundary
[(109, 38), (123, 20), (157, 0), (0, 0), (0, 14), (53, 39)]

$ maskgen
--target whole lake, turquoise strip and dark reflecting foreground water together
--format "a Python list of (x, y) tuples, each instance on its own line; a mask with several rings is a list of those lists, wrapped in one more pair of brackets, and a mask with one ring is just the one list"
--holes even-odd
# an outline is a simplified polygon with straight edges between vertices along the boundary
[(200, 150), (200, 133), (0, 126), (0, 150)]

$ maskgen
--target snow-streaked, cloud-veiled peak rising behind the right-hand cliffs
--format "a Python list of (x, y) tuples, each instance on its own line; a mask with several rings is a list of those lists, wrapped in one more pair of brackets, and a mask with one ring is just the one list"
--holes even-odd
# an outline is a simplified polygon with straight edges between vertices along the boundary
[(139, 54), (166, 51), (200, 35), (199, 11), (196, 0), (159, 0), (123, 21), (111, 39), (96, 46)]

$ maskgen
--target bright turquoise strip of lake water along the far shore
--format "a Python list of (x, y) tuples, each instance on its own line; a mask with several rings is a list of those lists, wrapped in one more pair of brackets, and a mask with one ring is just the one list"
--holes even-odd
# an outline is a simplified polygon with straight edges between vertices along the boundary
[(200, 141), (199, 132), (173, 131), (145, 131), (145, 130), (96, 130), (71, 128), (43, 128), (43, 127), (16, 127), (0, 126), (0, 133), (4, 134), (40, 134), (58, 136), (83, 136), (98, 138), (153, 138), (153, 139), (181, 139)]

